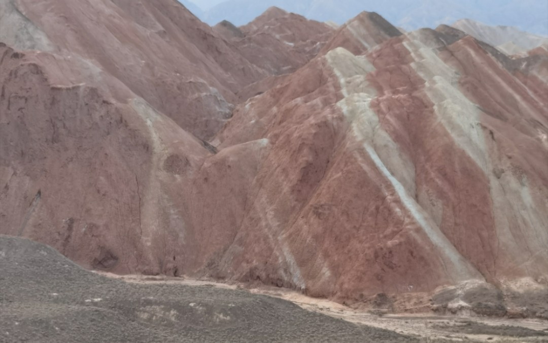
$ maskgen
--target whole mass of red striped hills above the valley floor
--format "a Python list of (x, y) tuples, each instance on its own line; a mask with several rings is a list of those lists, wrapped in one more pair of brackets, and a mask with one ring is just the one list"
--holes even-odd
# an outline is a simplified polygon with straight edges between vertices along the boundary
[(375, 13), (210, 29), (168, 0), (1, 4), (2, 233), (354, 304), (500, 315), (546, 291), (547, 54)]

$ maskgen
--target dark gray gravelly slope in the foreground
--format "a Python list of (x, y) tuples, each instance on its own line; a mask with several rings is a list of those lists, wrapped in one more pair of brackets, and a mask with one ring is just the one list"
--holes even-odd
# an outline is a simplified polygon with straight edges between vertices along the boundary
[(2, 342), (413, 342), (244, 290), (130, 284), (0, 235)]

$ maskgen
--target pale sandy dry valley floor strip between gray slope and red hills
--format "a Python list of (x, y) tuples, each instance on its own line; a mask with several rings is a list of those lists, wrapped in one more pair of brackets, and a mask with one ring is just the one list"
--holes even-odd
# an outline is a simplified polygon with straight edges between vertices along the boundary
[[(179, 284), (210, 286), (220, 289), (246, 288), (244, 284), (226, 284), (203, 280), (100, 274), (139, 284)], [(291, 301), (305, 310), (341, 318), (347, 322), (414, 336), (425, 342), (548, 342), (548, 321), (543, 319), (436, 316), (431, 313), (378, 315), (371, 311), (355, 310), (337, 302), (309, 297), (288, 289), (260, 286), (249, 288), (248, 291), (252, 294), (268, 295)]]

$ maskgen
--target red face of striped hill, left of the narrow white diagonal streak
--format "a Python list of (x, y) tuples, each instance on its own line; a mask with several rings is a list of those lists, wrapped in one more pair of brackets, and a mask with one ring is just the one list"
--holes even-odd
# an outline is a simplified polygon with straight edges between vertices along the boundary
[[(334, 50), (236, 112), (221, 133), (223, 144), (265, 137), (271, 148), (255, 179), (244, 234), (226, 253), (236, 257), (221, 260), (233, 263), (221, 270), (353, 301), (479, 277), (433, 223), (426, 224), (431, 233), (423, 231), (425, 215), (404, 215), (409, 198), (379, 169), (379, 156), (363, 150), (366, 138), (355, 137), (367, 130), (359, 109), (367, 109), (365, 94), (375, 92), (364, 84), (370, 71), (367, 60)], [(350, 90), (340, 93), (337, 75), (354, 79)], [(260, 250), (252, 248), (258, 242)]]

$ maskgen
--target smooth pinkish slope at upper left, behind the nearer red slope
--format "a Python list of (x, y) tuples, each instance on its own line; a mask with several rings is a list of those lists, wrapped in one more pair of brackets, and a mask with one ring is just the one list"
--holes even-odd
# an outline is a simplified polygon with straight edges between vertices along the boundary
[(24, 27), (10, 35), (2, 20), (5, 43), (27, 48), (17, 33), (31, 27), (42, 41), (47, 37), (50, 49), (42, 50), (93, 61), (199, 138), (213, 136), (230, 116), (237, 89), (268, 75), (174, 1), (2, 0), (2, 6)]

